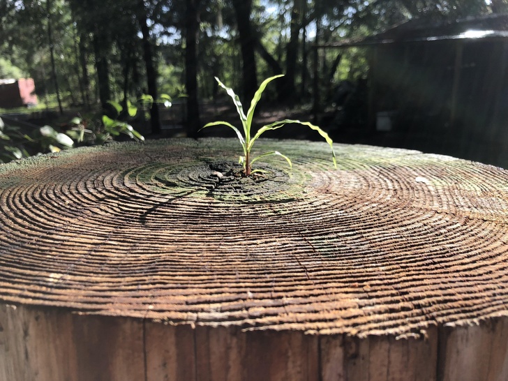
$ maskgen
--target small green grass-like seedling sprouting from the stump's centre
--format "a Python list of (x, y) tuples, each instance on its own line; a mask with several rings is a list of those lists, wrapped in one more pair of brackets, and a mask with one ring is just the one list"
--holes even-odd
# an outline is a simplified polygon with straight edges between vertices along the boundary
[(232, 128), (234, 130), (234, 132), (237, 133), (238, 139), (240, 140), (240, 143), (241, 143), (241, 147), (244, 149), (244, 156), (240, 156), (239, 161), (242, 165), (244, 165), (244, 174), (246, 176), (251, 176), (251, 174), (254, 172), (262, 172), (261, 170), (252, 170), (251, 166), (256, 160), (258, 160), (262, 157), (265, 157), (265, 156), (270, 156), (270, 155), (282, 156), (283, 158), (285, 158), (287, 163), (289, 163), (290, 167), (292, 167), (290, 158), (281, 154), (278, 151), (266, 152), (260, 156), (257, 156), (256, 158), (251, 158), (251, 150), (252, 150), (253, 144), (257, 140), (257, 138), (262, 135), (262, 133), (264, 133), (265, 131), (268, 131), (268, 130), (276, 130), (277, 128), (281, 128), (281, 127), (285, 126), (286, 124), (302, 124), (304, 126), (308, 126), (308, 127), (312, 128), (313, 130), (316, 130), (322, 137), (324, 137), (324, 140), (326, 140), (327, 143), (330, 145), (332, 159), (334, 160), (334, 166), (337, 167), (334, 146), (333, 146), (334, 142), (330, 139), (328, 134), (325, 133), (321, 128), (314, 126), (313, 124), (309, 123), (308, 121), (299, 121), (299, 120), (293, 120), (293, 119), (284, 119), (283, 121), (276, 121), (274, 123), (267, 124), (266, 126), (262, 126), (259, 130), (257, 130), (257, 133), (255, 133), (255, 135), (253, 137), (251, 137), (251, 127), (252, 127), (252, 120), (253, 120), (255, 107), (256, 107), (257, 103), (260, 101), (261, 95), (263, 94), (264, 89), (267, 87), (267, 84), (269, 84), (269, 82), (275, 80), (278, 77), (283, 77), (283, 74), (274, 75), (274, 77), (269, 77), (262, 82), (262, 84), (260, 85), (260, 88), (257, 89), (257, 91), (255, 92), (254, 98), (251, 100), (251, 107), (249, 107), (247, 114), (244, 114), (244, 107), (241, 105), (240, 99), (237, 96), (237, 94), (234, 94), (233, 89), (225, 86), (225, 84), (223, 84), (217, 77), (215, 77), (219, 86), (221, 86), (223, 89), (225, 89), (225, 91), (227, 91), (227, 94), (232, 98), (234, 105), (237, 107), (237, 112), (238, 112), (238, 114), (240, 116), (240, 120), (241, 120), (241, 126), (244, 130), (244, 135), (241, 134), (240, 130), (237, 127), (233, 126), (232, 124), (228, 123), (227, 121), (214, 121), (214, 122), (205, 124), (202, 127), (202, 129), (211, 127), (211, 126), (224, 125), (224, 126)]

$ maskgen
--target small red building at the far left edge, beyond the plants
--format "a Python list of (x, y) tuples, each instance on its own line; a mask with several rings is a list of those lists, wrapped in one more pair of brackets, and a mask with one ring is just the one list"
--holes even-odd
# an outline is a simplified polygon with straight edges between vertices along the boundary
[(14, 108), (37, 104), (36, 86), (32, 78), (0, 80), (0, 107)]

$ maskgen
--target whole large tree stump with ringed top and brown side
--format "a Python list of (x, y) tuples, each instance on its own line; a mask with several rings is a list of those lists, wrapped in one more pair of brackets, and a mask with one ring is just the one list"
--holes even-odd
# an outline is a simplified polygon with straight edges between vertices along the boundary
[[(508, 172), (260, 140), (0, 167), (0, 380), (508, 380)], [(256, 163), (257, 164), (257, 163)]]

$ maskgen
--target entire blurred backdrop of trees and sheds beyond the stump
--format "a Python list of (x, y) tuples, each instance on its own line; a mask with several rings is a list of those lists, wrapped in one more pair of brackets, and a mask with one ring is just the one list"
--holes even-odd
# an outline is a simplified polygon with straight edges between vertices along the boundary
[(234, 137), (199, 131), (239, 124), (214, 77), (247, 109), (277, 74), (254, 128), (508, 167), (505, 0), (0, 0), (0, 160)]

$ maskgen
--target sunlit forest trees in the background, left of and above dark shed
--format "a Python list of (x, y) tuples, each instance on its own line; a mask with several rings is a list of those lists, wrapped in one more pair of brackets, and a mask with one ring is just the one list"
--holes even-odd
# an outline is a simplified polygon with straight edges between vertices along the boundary
[[(265, 100), (304, 105), (334, 84), (368, 77), (366, 52), (315, 45), (373, 35), (414, 17), (454, 20), (504, 13), (507, 0), (0, 0), (0, 79), (32, 77), (44, 107), (96, 110), (109, 100), (170, 94), (185, 103), (186, 135), (200, 104), (221, 96), (214, 77), (246, 103), (285, 74)], [(319, 86), (311, 85), (319, 76)], [(185, 94), (184, 98), (178, 98)], [(147, 114), (160, 135), (160, 105)], [(302, 106), (303, 107), (303, 106)]]

